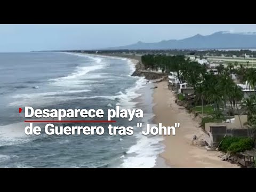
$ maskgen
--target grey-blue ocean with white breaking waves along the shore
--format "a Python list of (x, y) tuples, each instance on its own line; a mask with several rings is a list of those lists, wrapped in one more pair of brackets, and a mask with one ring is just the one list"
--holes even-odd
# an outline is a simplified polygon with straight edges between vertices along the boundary
[[(145, 136), (152, 123), (153, 89), (132, 77), (125, 58), (76, 53), (0, 53), (0, 167), (154, 167), (163, 151), (162, 136)], [(37, 88), (37, 89), (34, 89)], [(133, 135), (26, 135), (25, 115), (34, 109), (142, 109), (143, 119), (118, 118)], [(107, 117), (103, 117), (107, 120)], [(79, 120), (79, 119), (76, 119)], [(88, 119), (87, 119), (88, 120)], [(101, 119), (102, 120), (102, 119)], [(56, 125), (56, 124), (54, 124)], [(44, 130), (45, 124), (39, 124)], [(103, 126), (108, 124), (60, 124)]]

